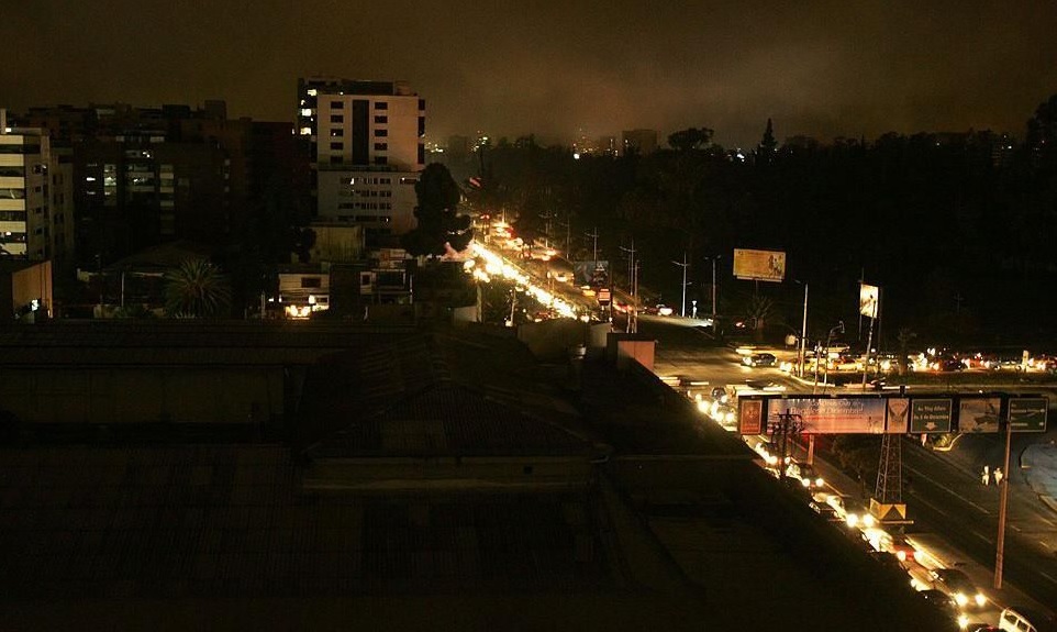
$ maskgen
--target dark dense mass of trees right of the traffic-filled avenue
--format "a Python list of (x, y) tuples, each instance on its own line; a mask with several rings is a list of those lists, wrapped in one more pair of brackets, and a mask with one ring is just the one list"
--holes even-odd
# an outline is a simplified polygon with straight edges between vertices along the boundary
[[(642, 286), (677, 307), (672, 262), (687, 253), (688, 296), (710, 308), (720, 256), (720, 312), (746, 315), (767, 297), (776, 334), (800, 329), (803, 289), (790, 281), (810, 284), (809, 333), (819, 337), (855, 321), (865, 278), (882, 288), (889, 347), (901, 329), (931, 344), (1045, 343), (1057, 304), (1055, 121), (1057, 96), (1021, 142), (970, 131), (778, 143), (780, 122), (767, 121), (744, 154), (691, 127), (649, 155), (575, 157), (530, 136), (475, 157), (467, 170), (482, 186), (470, 201), (504, 212), (522, 234), (568, 243), (574, 258), (590, 258), (598, 234), (619, 285), (634, 244)], [(734, 248), (785, 251), (787, 281), (734, 279)]]

